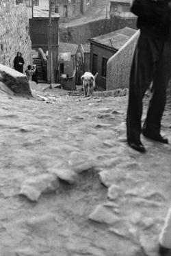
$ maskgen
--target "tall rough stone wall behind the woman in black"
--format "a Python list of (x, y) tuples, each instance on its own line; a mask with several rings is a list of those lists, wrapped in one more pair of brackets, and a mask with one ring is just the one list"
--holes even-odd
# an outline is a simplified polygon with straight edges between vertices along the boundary
[(29, 21), (24, 4), (14, 0), (0, 1), (0, 64), (13, 68), (14, 57), (21, 51), (25, 60), (24, 71), (32, 64)]

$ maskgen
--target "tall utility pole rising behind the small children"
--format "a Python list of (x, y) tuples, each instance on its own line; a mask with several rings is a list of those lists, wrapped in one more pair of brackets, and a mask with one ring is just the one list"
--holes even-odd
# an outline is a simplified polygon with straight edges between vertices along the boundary
[(49, 88), (52, 88), (51, 84), (51, 49), (52, 49), (52, 20), (51, 20), (51, 0), (49, 0), (49, 49), (48, 49), (48, 55), (49, 55)]

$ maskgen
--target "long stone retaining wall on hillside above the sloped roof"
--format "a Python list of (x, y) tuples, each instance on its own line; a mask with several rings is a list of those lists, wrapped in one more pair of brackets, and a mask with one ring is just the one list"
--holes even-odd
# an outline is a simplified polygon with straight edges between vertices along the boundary
[(90, 38), (107, 34), (123, 27), (135, 29), (136, 18), (115, 16), (110, 19), (100, 19), (73, 27), (60, 27), (60, 42), (86, 44)]

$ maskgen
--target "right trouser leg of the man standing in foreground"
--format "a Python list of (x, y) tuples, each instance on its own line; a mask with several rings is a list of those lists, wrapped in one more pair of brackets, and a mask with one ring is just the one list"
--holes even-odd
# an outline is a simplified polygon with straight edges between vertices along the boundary
[(166, 105), (166, 88), (171, 75), (171, 49), (166, 42), (153, 81), (153, 96), (150, 99), (144, 129), (159, 136), (161, 118)]

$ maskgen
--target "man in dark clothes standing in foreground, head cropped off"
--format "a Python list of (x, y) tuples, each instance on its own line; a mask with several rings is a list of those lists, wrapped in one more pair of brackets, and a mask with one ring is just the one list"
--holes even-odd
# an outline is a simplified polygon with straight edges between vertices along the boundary
[[(144, 153), (146, 149), (140, 140), (141, 133), (146, 138), (168, 144), (160, 129), (170, 79), (165, 73), (166, 57), (163, 54), (169, 38), (170, 0), (134, 0), (131, 12), (137, 15), (140, 38), (135, 47), (129, 81), (127, 142), (131, 148)], [(152, 82), (153, 95), (142, 128), (142, 99)]]

